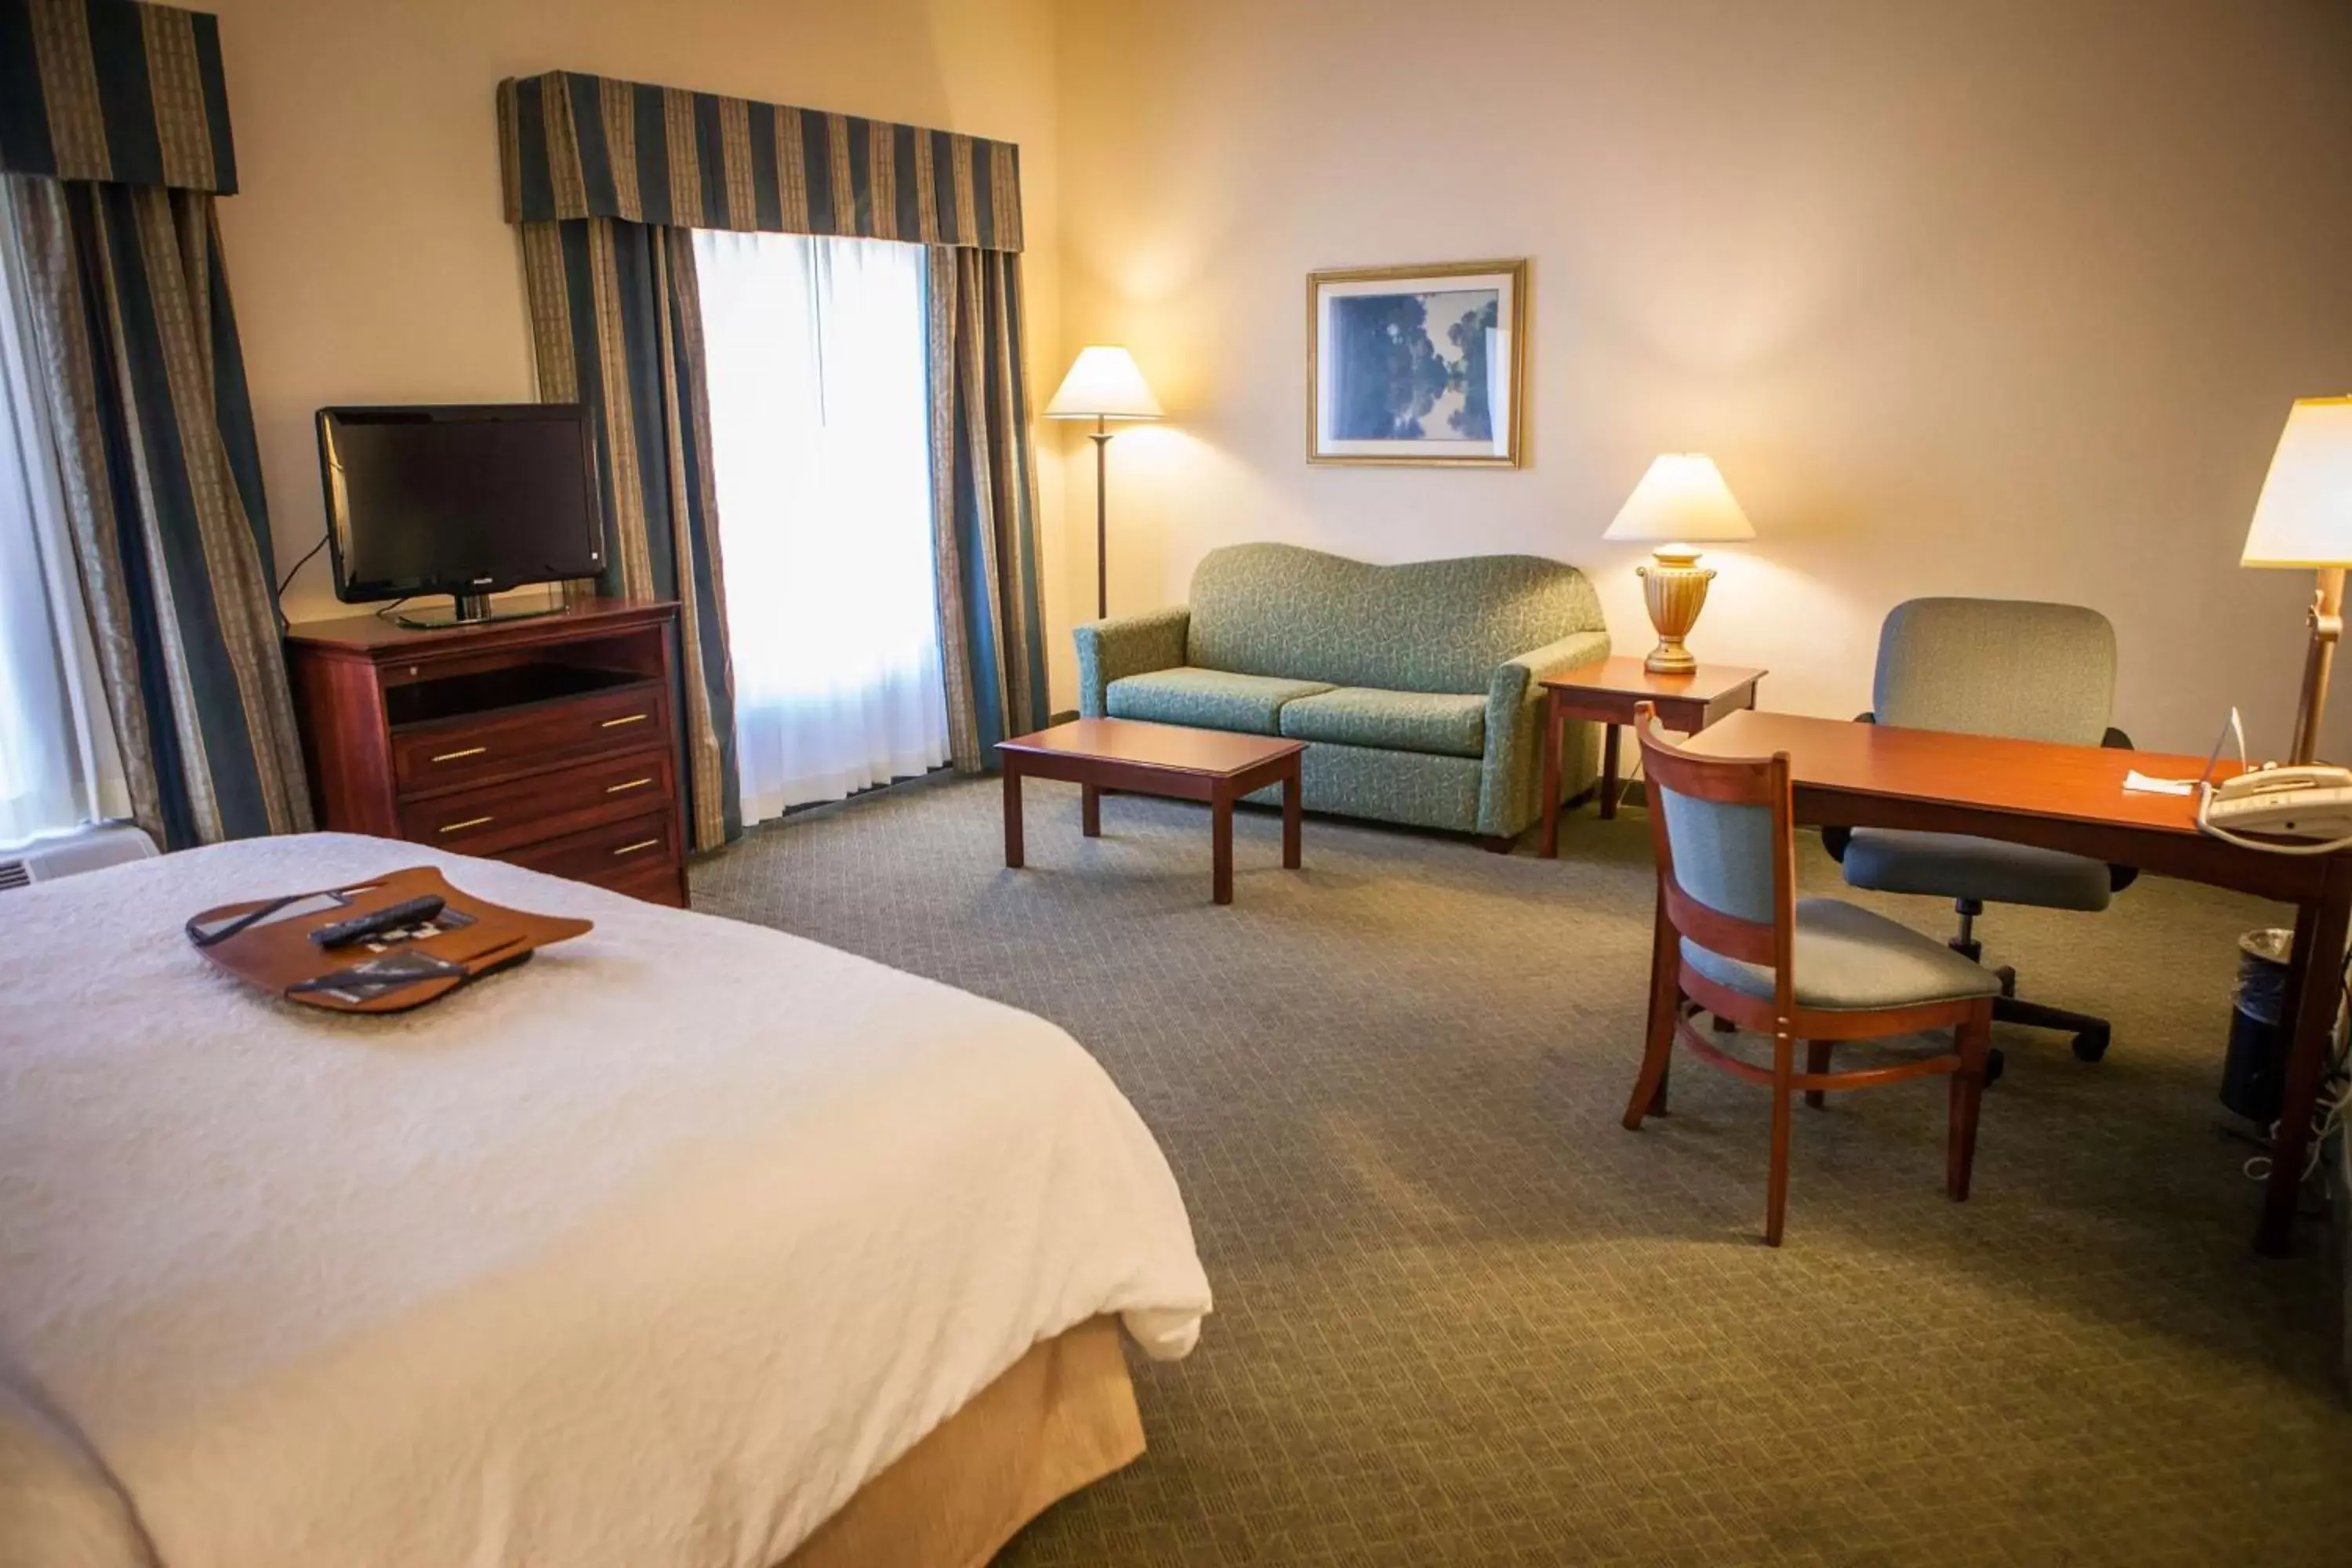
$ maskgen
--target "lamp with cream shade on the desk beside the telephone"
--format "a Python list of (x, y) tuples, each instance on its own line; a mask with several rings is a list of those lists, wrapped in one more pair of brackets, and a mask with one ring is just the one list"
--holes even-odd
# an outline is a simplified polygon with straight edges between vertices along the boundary
[(2312, 644), (2303, 656), (2296, 750), (2319, 752), (2319, 717), (2328, 705), (2328, 668), (2345, 630), (2345, 567), (2352, 567), (2352, 397), (2298, 397), (2270, 458), (2263, 498), (2253, 503), (2239, 567), (2300, 567), (2319, 574), (2312, 595)]

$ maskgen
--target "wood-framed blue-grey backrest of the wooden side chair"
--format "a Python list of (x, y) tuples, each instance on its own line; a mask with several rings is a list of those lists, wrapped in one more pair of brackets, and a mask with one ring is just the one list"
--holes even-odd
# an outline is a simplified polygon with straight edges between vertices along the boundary
[(1769, 964), (1783, 1016), (1795, 1004), (1797, 825), (1788, 752), (1693, 757), (1635, 708), (1649, 837), (1658, 853), (1665, 919), (1708, 952)]

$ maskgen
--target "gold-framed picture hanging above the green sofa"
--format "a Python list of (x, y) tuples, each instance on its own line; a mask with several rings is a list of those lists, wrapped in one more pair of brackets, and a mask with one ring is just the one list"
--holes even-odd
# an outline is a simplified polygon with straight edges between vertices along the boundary
[(1526, 261), (1308, 273), (1308, 463), (1517, 468)]

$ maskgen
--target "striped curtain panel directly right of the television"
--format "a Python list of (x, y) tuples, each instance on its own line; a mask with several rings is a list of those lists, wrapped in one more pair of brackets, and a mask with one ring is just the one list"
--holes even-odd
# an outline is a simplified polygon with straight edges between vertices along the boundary
[(677, 599), (687, 820), (694, 849), (717, 849), (743, 813), (694, 240), (614, 219), (524, 223), (522, 259), (539, 393), (588, 404), (602, 430), (595, 592)]

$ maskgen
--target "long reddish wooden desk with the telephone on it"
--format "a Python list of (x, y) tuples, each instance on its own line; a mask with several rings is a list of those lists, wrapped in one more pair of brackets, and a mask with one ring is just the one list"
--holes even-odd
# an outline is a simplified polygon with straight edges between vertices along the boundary
[[(1693, 736), (1686, 748), (1708, 757), (1788, 752), (1799, 823), (1973, 832), (2296, 905), (2286, 987), (2293, 1044), (2279, 1133), (2270, 1150), (2270, 1187), (2253, 1241), (2270, 1255), (2293, 1248), (2312, 1103), (2336, 1027), (2338, 969), (2352, 917), (2352, 858), (2270, 856), (2223, 844), (2197, 832), (2187, 797), (2124, 792), (2124, 773), (2131, 769), (2154, 778), (2194, 778), (2204, 771), (2204, 757), (2044, 745), (1783, 712), (1733, 712)], [(2234, 773), (2237, 766), (2220, 771)], [(1663, 940), (1663, 917), (1658, 931)]]

